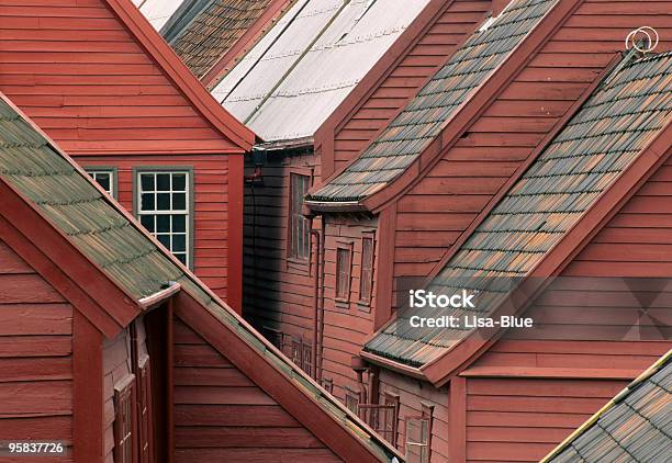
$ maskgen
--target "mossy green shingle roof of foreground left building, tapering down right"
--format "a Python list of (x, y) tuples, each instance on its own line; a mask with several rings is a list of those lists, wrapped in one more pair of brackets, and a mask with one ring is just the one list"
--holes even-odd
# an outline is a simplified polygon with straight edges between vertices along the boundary
[[(22, 204), (27, 204), (42, 222), (49, 224), (52, 230), (71, 244), (77, 256), (61, 255), (59, 259), (92, 262), (99, 273), (122, 289), (125, 297), (133, 300), (138, 307), (143, 304), (141, 300), (179, 283), (182, 294), (197, 302), (198, 306), (189, 309), (193, 316), (204, 313), (213, 320), (209, 321), (212, 330), (233, 332), (245, 341), (249, 349), (247, 363), (238, 368), (243, 371), (272, 368), (280, 372), (284, 387), (294, 393), (299, 391), (301, 400), (309, 400), (313, 406), (317, 404), (324, 414), (321, 419), (328, 417), (326, 421), (336, 426), (334, 429), (340, 434), (339, 439), (347, 437), (343, 445), (355, 448), (360, 455), (367, 455), (367, 461), (402, 461), (382, 438), (281, 355), (139, 224), (131, 221), (119, 204), (1, 93), (0, 187), (2, 191), (18, 195)], [(4, 200), (0, 203), (3, 206)], [(2, 214), (7, 212), (4, 210)], [(65, 262), (56, 260), (55, 263)], [(91, 279), (87, 278), (79, 283), (86, 286), (90, 282)], [(130, 302), (107, 303), (115, 306)], [(126, 318), (125, 323), (128, 321)], [(254, 358), (261, 361), (254, 363)], [(265, 387), (264, 384), (260, 386)], [(321, 439), (328, 441), (325, 437)]]

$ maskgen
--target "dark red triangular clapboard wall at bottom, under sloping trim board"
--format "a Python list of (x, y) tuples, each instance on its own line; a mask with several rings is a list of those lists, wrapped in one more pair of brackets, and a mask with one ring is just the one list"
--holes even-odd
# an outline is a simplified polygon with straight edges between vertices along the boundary
[(176, 463), (340, 461), (178, 318), (173, 349)]

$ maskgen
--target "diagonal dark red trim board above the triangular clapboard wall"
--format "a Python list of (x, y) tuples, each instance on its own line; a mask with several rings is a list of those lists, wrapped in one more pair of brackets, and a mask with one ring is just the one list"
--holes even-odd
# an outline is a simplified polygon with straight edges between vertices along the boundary
[[(324, 410), (324, 404), (321, 404), (317, 397), (311, 397), (299, 387), (295, 376), (300, 376), (302, 382), (313, 382), (301, 370), (292, 369), (291, 372), (285, 372), (280, 369), (280, 365), (273, 365), (261, 351), (253, 349), (238, 330), (231, 325), (223, 324), (193, 298), (188, 290), (181, 291), (178, 295), (175, 312), (180, 319), (199, 332), (203, 339), (313, 432), (336, 455), (347, 462), (379, 461), (378, 455), (363, 444), (361, 439), (367, 439), (366, 437), (356, 437), (346, 424), (337, 421)], [(228, 316), (236, 317), (239, 325), (251, 330), (242, 318), (231, 313)], [(267, 351), (284, 358), (269, 342), (260, 338), (258, 340), (264, 342)], [(291, 365), (291, 361), (287, 360), (287, 363)], [(393, 451), (392, 448), (390, 451)], [(403, 460), (401, 455), (399, 459)]]

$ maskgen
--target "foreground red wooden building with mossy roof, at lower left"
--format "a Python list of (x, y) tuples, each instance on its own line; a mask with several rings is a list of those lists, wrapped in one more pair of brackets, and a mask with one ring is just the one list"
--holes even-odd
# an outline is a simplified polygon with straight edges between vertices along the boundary
[(403, 461), (4, 95), (0, 257), (3, 461)]

